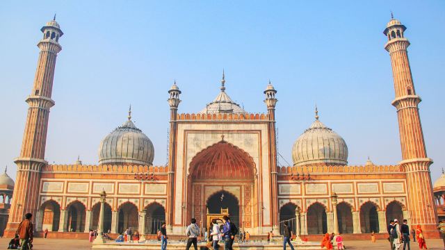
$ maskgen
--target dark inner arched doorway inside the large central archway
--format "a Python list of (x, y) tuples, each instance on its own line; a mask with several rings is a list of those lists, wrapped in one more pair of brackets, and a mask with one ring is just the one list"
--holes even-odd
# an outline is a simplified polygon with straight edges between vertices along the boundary
[(224, 190), (216, 192), (209, 197), (206, 206), (211, 214), (219, 214), (221, 208), (227, 208), (231, 222), (239, 228), (239, 202), (233, 194)]

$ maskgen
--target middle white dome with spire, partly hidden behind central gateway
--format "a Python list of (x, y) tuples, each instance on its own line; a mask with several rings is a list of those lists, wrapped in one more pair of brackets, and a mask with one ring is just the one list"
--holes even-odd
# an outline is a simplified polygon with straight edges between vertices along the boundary
[(229, 95), (225, 92), (225, 75), (223, 71), (223, 80), (221, 80), (221, 92), (218, 96), (205, 108), (200, 111), (200, 114), (218, 114), (218, 113), (230, 113), (230, 114), (245, 114), (245, 110), (239, 106), (238, 103), (232, 101)]

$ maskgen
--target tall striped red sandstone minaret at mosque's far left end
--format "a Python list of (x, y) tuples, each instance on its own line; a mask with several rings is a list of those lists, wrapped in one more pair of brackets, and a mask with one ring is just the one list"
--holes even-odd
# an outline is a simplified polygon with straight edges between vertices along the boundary
[(62, 49), (58, 39), (63, 35), (56, 22), (56, 16), (40, 29), (43, 38), (37, 44), (40, 49), (33, 89), (26, 102), (29, 105), (26, 116), (20, 156), (15, 159), (17, 178), (15, 181), (13, 203), (11, 204), (5, 233), (13, 236), (24, 214), (32, 213), (37, 218), (40, 169), (47, 165), (44, 149), (47, 141), (49, 108), (54, 106), (51, 99), (54, 67), (57, 53)]

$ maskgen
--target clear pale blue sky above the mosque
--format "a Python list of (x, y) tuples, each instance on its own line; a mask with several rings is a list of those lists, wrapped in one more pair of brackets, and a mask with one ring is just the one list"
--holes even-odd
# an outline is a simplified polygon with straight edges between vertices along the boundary
[[(227, 93), (265, 113), (268, 79), (277, 89), (279, 151), (314, 120), (348, 144), (350, 165), (369, 156), (401, 160), (391, 63), (382, 34), (390, 11), (407, 31), (433, 181), (445, 167), (445, 1), (2, 1), (0, 3), (0, 165), (15, 176), (40, 27), (57, 12), (60, 38), (46, 158), (97, 164), (99, 142), (127, 119), (152, 140), (155, 165), (166, 161), (167, 90), (176, 79), (180, 113)], [(281, 160), (284, 164), (284, 160)]]

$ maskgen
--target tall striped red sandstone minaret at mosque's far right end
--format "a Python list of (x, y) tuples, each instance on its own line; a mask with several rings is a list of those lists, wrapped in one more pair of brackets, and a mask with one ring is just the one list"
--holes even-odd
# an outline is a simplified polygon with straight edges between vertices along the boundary
[(419, 102), (416, 95), (407, 47), (410, 42), (403, 33), (406, 27), (391, 14), (391, 21), (383, 33), (388, 42), (385, 49), (391, 56), (396, 99), (392, 105), (397, 109), (398, 127), (401, 138), (402, 161), (400, 165), (407, 174), (408, 210), (411, 224), (421, 225), (430, 233), (436, 231), (437, 213), (432, 194), (430, 165), (426, 156), (422, 126), (419, 116)]

